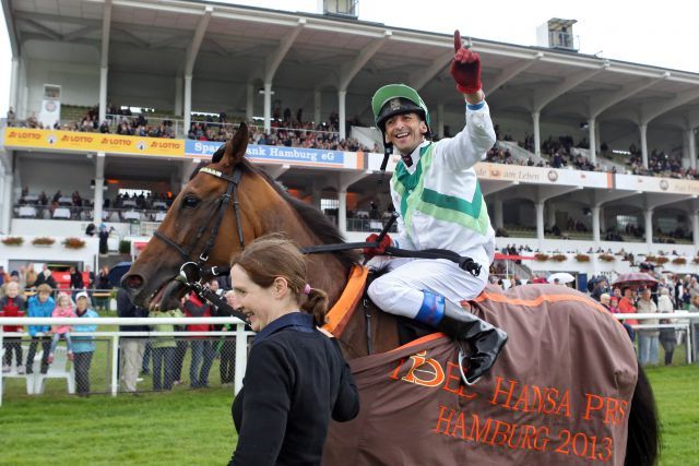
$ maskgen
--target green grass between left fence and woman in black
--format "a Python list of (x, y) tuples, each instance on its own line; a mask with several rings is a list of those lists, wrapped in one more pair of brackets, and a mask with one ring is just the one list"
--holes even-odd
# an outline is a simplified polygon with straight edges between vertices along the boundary
[(226, 464), (232, 401), (232, 389), (13, 399), (0, 407), (0, 464)]

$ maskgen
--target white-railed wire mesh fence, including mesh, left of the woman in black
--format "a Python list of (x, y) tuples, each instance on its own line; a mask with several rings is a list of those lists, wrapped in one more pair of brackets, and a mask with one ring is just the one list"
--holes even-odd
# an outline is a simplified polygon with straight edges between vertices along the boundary
[[(233, 324), (212, 332), (80, 332), (85, 325)], [(0, 325), (75, 325), (68, 338), (0, 326), (3, 397), (118, 394), (242, 386), (253, 335), (235, 318), (0, 318)], [(52, 356), (52, 357), (49, 357)]]

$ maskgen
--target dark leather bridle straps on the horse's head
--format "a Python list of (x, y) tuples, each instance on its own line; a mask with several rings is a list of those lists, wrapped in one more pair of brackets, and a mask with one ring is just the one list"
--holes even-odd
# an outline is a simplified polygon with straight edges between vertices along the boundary
[[(203, 273), (202, 267), (204, 263), (209, 260), (211, 248), (213, 248), (214, 242), (216, 241), (216, 236), (218, 235), (218, 228), (221, 227), (221, 222), (223, 220), (223, 216), (226, 212), (226, 207), (230, 203), (232, 199), (233, 199), (233, 211), (236, 216), (236, 226), (238, 228), (238, 242), (240, 243), (240, 249), (241, 250), (245, 249), (245, 239), (242, 238), (242, 225), (240, 223), (240, 203), (238, 202), (238, 184), (240, 183), (240, 178), (242, 177), (242, 170), (240, 169), (240, 167), (236, 167), (235, 170), (233, 171), (233, 175), (229, 176), (227, 174), (224, 174), (223, 171), (215, 170), (210, 167), (202, 167), (199, 170), (199, 172), (209, 174), (216, 178), (221, 178), (222, 180), (227, 181), (228, 186), (226, 187), (226, 192), (221, 194), (221, 196), (218, 198), (217, 205), (214, 210), (211, 211), (211, 214), (209, 215), (209, 218), (206, 219), (206, 222), (203, 223), (197, 230), (197, 236), (194, 237), (194, 239), (185, 249), (180, 244), (178, 244), (175, 240), (167, 237), (167, 235), (158, 230), (156, 230), (153, 234), (153, 236), (155, 236), (157, 239), (159, 239), (161, 241), (165, 242), (167, 246), (175, 249), (179, 253), (179, 255), (182, 256), (185, 262), (182, 263), (182, 265), (180, 265), (180, 268), (179, 268), (180, 275), (183, 276), (186, 280), (185, 285), (188, 285), (190, 287), (192, 287), (194, 283), (201, 282), (201, 278), (203, 278), (204, 276), (220, 275), (218, 271), (216, 271), (216, 268), (220, 268), (220, 267), (214, 266), (211, 270), (209, 270), (208, 273)], [(197, 246), (199, 244), (204, 231), (206, 230), (209, 225), (212, 224), (212, 222), (213, 222), (213, 227), (211, 228), (211, 234), (209, 235), (209, 239), (206, 240), (204, 248), (199, 253), (199, 258), (193, 259), (192, 253), (197, 248)]]

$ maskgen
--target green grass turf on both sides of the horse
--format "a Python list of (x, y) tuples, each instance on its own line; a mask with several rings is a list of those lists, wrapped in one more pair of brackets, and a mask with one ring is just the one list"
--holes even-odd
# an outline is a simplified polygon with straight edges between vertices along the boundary
[[(660, 465), (699, 465), (699, 366), (647, 372), (662, 423)], [(116, 398), (62, 390), (5, 397), (0, 465), (220, 465), (235, 447), (230, 387)]]

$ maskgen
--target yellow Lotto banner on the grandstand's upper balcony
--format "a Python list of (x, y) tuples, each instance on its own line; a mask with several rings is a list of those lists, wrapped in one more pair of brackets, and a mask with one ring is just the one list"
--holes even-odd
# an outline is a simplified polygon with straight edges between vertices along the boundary
[(105, 152), (168, 157), (185, 155), (183, 140), (26, 128), (5, 128), (4, 145), (9, 148), (46, 148), (49, 151)]

